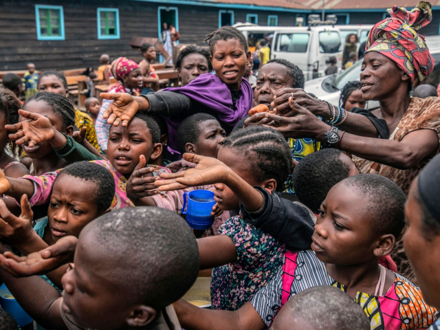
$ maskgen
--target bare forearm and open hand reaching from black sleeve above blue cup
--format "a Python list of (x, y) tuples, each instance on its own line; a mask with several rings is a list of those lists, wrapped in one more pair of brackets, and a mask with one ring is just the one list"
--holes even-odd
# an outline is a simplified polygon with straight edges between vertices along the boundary
[(253, 212), (263, 206), (263, 195), (218, 159), (193, 153), (185, 153), (184, 159), (197, 165), (183, 172), (160, 175), (164, 180), (155, 181), (160, 191), (223, 183), (231, 188), (246, 210)]

